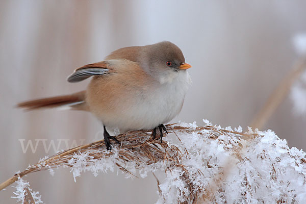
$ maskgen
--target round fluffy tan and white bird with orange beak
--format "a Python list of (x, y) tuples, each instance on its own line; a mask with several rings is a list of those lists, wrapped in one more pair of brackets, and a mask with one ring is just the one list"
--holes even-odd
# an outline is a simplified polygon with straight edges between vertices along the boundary
[(157, 130), (162, 142), (164, 123), (182, 110), (191, 85), (182, 50), (169, 41), (115, 50), (102, 62), (77, 68), (68, 82), (92, 77), (87, 89), (78, 93), (25, 101), (18, 104), (28, 110), (68, 107), (91, 112), (103, 123), (104, 139), (112, 148), (108, 130)]

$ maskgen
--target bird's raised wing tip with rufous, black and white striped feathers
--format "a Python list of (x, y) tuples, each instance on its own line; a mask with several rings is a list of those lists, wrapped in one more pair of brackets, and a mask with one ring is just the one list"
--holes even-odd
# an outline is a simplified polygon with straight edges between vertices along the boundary
[(103, 75), (110, 70), (110, 65), (107, 61), (88, 64), (78, 69), (75, 69), (67, 78), (68, 82), (80, 82), (94, 75)]

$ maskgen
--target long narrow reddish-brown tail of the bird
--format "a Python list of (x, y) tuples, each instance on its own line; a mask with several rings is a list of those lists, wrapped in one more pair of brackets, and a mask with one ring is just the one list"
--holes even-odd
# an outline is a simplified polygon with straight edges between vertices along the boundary
[(29, 100), (17, 104), (18, 108), (24, 108), (27, 110), (55, 108), (61, 106), (67, 106), (77, 110), (86, 110), (85, 91), (73, 93), (71, 95), (61, 95), (49, 98)]

